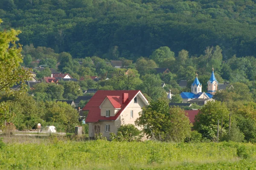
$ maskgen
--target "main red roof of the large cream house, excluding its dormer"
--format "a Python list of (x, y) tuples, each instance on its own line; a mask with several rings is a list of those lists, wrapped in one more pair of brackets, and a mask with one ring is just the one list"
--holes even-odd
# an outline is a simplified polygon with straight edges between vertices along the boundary
[[(99, 120), (116, 120), (120, 113), (125, 109), (125, 107), (131, 102), (131, 100), (139, 93), (138, 90), (131, 90), (131, 91), (97, 91), (94, 96), (90, 99), (90, 101), (84, 106), (82, 109), (83, 111), (89, 111), (88, 116), (85, 120), (85, 122), (98, 122)], [(128, 93), (128, 99), (122, 103), (122, 95), (124, 93)], [(111, 99), (114, 105), (121, 105), (121, 108), (115, 116), (105, 117), (100, 116), (100, 108), (99, 106), (102, 104), (104, 99), (107, 97), (108, 99)], [(117, 99), (117, 96), (119, 96), (119, 100)], [(120, 101), (121, 99), (121, 101)], [(119, 101), (119, 102), (117, 102)], [(111, 102), (111, 103), (112, 103)], [(113, 104), (112, 103), (112, 104)]]

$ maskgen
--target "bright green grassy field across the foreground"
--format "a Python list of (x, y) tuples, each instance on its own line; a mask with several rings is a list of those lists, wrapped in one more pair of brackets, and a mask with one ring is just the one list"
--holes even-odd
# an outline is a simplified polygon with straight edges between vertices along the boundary
[[(256, 169), (256, 145), (4, 137), (0, 169)], [(1, 147), (1, 144), (0, 144)]]

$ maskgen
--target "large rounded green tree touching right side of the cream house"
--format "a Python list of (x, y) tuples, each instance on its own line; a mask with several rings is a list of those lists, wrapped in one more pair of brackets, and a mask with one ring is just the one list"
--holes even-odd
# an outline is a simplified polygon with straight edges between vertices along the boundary
[(164, 100), (152, 101), (139, 115), (135, 124), (143, 127), (147, 138), (182, 142), (191, 132), (186, 113), (180, 108), (169, 109)]

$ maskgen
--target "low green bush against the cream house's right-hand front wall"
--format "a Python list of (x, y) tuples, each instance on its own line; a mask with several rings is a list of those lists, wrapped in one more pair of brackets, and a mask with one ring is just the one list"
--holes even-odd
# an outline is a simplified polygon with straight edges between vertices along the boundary
[(132, 124), (121, 125), (117, 130), (117, 134), (111, 133), (111, 140), (116, 141), (139, 141), (141, 139), (141, 131)]

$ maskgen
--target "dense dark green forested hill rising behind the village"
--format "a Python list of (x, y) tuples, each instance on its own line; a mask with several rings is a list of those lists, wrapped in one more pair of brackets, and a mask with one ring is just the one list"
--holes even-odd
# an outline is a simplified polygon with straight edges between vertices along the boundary
[(0, 30), (76, 58), (136, 59), (161, 46), (200, 55), (219, 45), (227, 59), (256, 52), (255, 1), (0, 0)]

